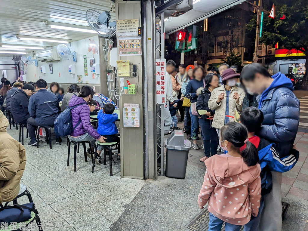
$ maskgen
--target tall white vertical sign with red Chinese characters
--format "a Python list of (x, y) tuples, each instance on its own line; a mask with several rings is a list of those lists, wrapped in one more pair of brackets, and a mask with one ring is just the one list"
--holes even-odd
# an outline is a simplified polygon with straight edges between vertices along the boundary
[(165, 78), (166, 78), (166, 59), (155, 60), (156, 73), (156, 103), (166, 103)]

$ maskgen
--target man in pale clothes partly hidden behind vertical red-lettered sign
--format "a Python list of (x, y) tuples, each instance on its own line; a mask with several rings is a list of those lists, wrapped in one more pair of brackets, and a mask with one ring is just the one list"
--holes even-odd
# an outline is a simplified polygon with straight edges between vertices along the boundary
[(169, 111), (169, 101), (170, 104), (174, 103), (173, 95), (172, 95), (172, 81), (170, 74), (175, 70), (175, 62), (170, 59), (166, 63), (166, 103), (164, 104), (164, 133), (165, 135), (170, 133), (171, 125), (172, 125), (172, 119)]

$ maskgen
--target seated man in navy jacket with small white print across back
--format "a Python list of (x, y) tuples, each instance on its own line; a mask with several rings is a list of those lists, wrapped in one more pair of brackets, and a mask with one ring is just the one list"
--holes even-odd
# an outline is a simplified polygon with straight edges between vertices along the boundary
[[(59, 101), (57, 96), (47, 91), (47, 82), (44, 79), (36, 81), (37, 93), (30, 97), (28, 111), (30, 118), (27, 120), (29, 137), (31, 138), (28, 146), (37, 144), (35, 127), (54, 125), (58, 117)], [(56, 143), (59, 143), (59, 137), (56, 137)]]

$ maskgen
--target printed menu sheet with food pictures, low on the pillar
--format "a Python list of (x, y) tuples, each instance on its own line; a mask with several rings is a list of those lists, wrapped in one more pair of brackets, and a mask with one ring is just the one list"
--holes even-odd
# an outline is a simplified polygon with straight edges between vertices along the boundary
[(123, 126), (140, 127), (140, 108), (137, 103), (124, 103), (123, 106)]

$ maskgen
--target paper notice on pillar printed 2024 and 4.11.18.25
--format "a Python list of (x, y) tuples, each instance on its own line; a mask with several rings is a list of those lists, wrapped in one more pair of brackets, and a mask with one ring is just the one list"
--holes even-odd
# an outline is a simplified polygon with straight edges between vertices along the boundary
[(141, 55), (141, 38), (119, 38), (118, 39), (119, 55)]

